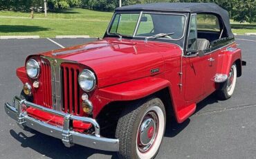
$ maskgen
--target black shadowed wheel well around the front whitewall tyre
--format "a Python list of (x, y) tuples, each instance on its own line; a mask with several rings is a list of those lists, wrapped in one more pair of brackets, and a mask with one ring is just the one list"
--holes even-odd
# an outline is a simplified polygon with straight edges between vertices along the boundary
[[(162, 100), (165, 106), (166, 117), (174, 118), (174, 111), (172, 106), (172, 99), (170, 99), (171, 96), (169, 88), (163, 88), (161, 91), (157, 91), (156, 93), (147, 95), (146, 97), (152, 96), (158, 97)], [(104, 106), (96, 118), (97, 122), (100, 124), (100, 135), (107, 138), (115, 138), (118, 119), (122, 113), (122, 110), (125, 109), (125, 106), (127, 106), (130, 102), (134, 101), (117, 101), (111, 102)]]

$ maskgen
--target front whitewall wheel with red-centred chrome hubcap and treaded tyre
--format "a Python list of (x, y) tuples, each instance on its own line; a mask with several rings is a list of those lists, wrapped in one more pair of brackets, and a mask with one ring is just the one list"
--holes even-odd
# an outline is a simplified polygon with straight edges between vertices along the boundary
[(129, 104), (116, 129), (120, 158), (154, 158), (165, 132), (165, 106), (159, 98)]

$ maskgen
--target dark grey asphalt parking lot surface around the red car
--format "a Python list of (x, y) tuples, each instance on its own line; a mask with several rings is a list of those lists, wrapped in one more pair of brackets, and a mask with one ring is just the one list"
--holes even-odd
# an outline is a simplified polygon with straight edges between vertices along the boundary
[[(256, 37), (236, 38), (247, 66), (234, 95), (226, 101), (210, 95), (183, 124), (168, 121), (156, 158), (256, 158)], [(64, 47), (90, 40), (53, 39)], [(57, 44), (48, 39), (0, 40), (0, 158), (116, 158), (112, 152), (79, 145), (66, 148), (61, 140), (24, 131), (4, 112), (4, 102), (12, 101), (22, 88), (16, 68), (24, 66), (28, 55), (58, 49)]]

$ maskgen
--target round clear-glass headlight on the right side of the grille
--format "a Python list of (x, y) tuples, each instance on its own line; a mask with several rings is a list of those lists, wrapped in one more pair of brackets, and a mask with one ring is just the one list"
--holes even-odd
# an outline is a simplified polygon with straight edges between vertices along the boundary
[(83, 70), (78, 77), (78, 83), (82, 90), (88, 92), (95, 87), (96, 78), (93, 72), (89, 70)]

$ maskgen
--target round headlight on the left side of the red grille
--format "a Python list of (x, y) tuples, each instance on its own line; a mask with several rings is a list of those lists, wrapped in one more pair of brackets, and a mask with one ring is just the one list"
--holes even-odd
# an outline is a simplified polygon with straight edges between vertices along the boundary
[(30, 78), (37, 78), (39, 75), (39, 63), (35, 59), (28, 59), (26, 63), (26, 72)]

